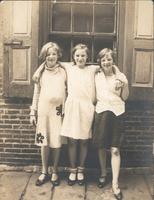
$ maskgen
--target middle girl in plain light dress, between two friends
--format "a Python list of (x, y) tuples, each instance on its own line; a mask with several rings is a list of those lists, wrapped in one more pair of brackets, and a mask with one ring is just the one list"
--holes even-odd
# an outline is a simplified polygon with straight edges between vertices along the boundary
[[(84, 165), (87, 156), (88, 139), (92, 137), (91, 127), (95, 110), (94, 77), (98, 66), (86, 65), (88, 55), (87, 46), (78, 44), (72, 51), (74, 64), (64, 66), (67, 72), (68, 96), (65, 102), (65, 115), (61, 135), (68, 138), (69, 185), (75, 184), (76, 181), (79, 185), (83, 185), (85, 182)], [(79, 148), (77, 148), (78, 145)], [(79, 162), (77, 163), (78, 153)]]

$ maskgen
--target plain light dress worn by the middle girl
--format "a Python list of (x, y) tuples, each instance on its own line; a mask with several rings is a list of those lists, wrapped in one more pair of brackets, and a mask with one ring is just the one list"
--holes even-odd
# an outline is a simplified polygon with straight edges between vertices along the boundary
[(68, 96), (61, 135), (73, 139), (89, 139), (95, 101), (95, 66), (81, 69), (76, 65), (65, 67), (67, 72)]

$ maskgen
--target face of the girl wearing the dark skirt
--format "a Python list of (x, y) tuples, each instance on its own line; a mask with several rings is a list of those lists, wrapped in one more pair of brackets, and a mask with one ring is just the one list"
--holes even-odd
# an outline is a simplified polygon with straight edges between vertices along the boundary
[(106, 73), (112, 72), (113, 58), (110, 53), (101, 58), (101, 68)]

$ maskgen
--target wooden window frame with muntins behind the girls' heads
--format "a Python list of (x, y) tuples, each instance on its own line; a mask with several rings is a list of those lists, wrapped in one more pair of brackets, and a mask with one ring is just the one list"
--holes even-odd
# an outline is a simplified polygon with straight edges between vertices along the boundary
[[(71, 6), (71, 29), (70, 31), (54, 31), (52, 28), (52, 6), (54, 4), (68, 4)], [(93, 9), (93, 13), (92, 13), (92, 18), (93, 18), (93, 22), (92, 22), (92, 31), (91, 32), (74, 32), (73, 31), (73, 5), (91, 5), (92, 9)], [(114, 30), (112, 33), (106, 33), (106, 32), (94, 32), (94, 27), (95, 27), (95, 22), (94, 22), (94, 10), (95, 10), (95, 5), (113, 5), (115, 8), (114, 10)], [(50, 13), (51, 12), (51, 13)], [(115, 0), (114, 3), (111, 2), (95, 2), (94, 0), (91, 2), (75, 2), (75, 1), (50, 1), (49, 5), (48, 5), (48, 25), (49, 25), (49, 37), (51, 38), (52, 36), (62, 36), (62, 37), (69, 37), (71, 40), (71, 45), (70, 45), (70, 53), (69, 53), (69, 61), (72, 60), (71, 58), (71, 49), (73, 48), (73, 41), (74, 38), (76, 37), (85, 37), (85, 38), (90, 38), (92, 41), (92, 45), (91, 45), (91, 62), (90, 63), (96, 63), (94, 62), (94, 60), (96, 60), (96, 58), (94, 57), (95, 54), (95, 40), (97, 39), (108, 39), (112, 41), (112, 48), (114, 49), (115, 52), (117, 52), (117, 43), (118, 43), (118, 15), (119, 15), (119, 0)], [(49, 39), (49, 38), (48, 38)]]

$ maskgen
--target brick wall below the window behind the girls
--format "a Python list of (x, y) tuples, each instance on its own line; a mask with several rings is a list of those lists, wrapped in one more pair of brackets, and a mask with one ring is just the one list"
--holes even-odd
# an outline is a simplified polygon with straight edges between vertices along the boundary
[[(2, 24), (0, 17), (0, 30), (2, 30)], [(37, 165), (40, 163), (40, 150), (34, 145), (35, 130), (29, 124), (31, 100), (2, 97), (2, 33), (3, 31), (0, 31), (0, 164)], [(126, 110), (125, 137), (121, 148), (122, 166), (151, 166), (154, 102), (129, 102)], [(88, 166), (98, 165), (95, 153), (93, 148), (89, 149)], [(62, 155), (61, 165), (65, 165), (67, 163), (66, 147)]]

